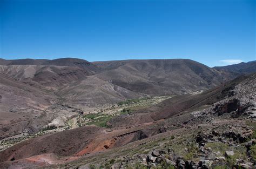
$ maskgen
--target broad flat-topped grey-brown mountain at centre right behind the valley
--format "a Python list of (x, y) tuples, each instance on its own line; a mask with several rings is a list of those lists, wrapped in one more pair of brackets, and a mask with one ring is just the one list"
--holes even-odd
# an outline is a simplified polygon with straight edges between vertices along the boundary
[(188, 59), (93, 62), (96, 76), (134, 92), (151, 95), (191, 93), (217, 86), (229, 78)]

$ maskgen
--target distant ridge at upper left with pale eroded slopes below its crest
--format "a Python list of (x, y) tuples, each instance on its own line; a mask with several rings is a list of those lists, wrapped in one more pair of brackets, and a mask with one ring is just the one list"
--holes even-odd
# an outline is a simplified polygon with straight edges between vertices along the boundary
[[(2, 65), (1, 65), (2, 64)], [(94, 75), (98, 67), (82, 59), (63, 58), (0, 60), (5, 76), (23, 83), (57, 91), (63, 84)]]

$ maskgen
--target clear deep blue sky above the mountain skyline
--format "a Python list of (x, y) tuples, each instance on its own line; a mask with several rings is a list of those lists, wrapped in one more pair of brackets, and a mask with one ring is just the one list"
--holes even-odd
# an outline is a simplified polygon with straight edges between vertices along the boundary
[(248, 62), (255, 2), (0, 0), (0, 58)]

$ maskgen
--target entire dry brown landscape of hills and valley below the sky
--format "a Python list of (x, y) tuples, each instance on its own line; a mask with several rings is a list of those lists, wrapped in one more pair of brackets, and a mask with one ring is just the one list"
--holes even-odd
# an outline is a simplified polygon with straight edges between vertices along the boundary
[(247, 75), (187, 59), (0, 65), (2, 168), (255, 166), (252, 63)]

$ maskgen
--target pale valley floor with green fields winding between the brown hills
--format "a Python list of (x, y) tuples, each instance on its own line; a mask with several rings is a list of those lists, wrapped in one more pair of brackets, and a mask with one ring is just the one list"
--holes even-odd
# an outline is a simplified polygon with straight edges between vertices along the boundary
[[(5, 138), (0, 142), (0, 151), (13, 146), (26, 139), (31, 139), (44, 134), (60, 132), (64, 130), (76, 129), (77, 127), (85, 125), (96, 125), (98, 127), (107, 128), (107, 121), (110, 119), (120, 116), (122, 114), (129, 114), (135, 110), (144, 109), (155, 104), (162, 102), (165, 99), (171, 98), (173, 96), (158, 96), (151, 98), (141, 98), (141, 99), (128, 99), (124, 102), (119, 102), (116, 104), (107, 104), (102, 107), (97, 107), (93, 112), (83, 112), (73, 115), (74, 117), (66, 118), (66, 121), (55, 118), (46, 126), (44, 126), (39, 132), (36, 133), (22, 133), (9, 138)], [(61, 108), (70, 109), (70, 107)], [(69, 110), (70, 111), (70, 110)], [(72, 111), (72, 110), (71, 110)]]

